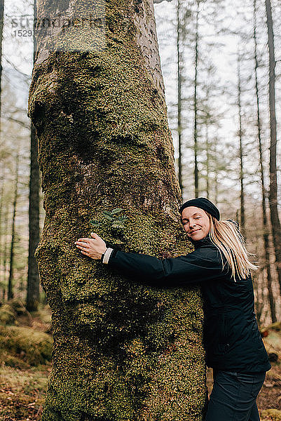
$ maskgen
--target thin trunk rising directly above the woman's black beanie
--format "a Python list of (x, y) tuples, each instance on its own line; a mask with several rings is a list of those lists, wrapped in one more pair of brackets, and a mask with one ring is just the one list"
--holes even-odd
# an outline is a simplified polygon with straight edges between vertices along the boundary
[(178, 133), (178, 147), (179, 147), (179, 188), (181, 189), (181, 197), (183, 194), (182, 185), (182, 145), (181, 145), (181, 65), (182, 58), (180, 52), (180, 41), (181, 41), (181, 27), (180, 27), (180, 3), (181, 0), (177, 0), (177, 133)]

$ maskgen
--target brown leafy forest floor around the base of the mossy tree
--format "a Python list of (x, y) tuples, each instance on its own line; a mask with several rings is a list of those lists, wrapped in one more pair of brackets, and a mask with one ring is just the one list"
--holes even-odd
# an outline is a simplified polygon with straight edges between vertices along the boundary
[[(36, 330), (36, 333), (41, 332), (46, 335), (46, 332), (50, 331), (48, 307), (41, 309), (39, 313), (32, 314), (32, 322), (30, 320), (30, 315), (27, 317), (26, 314), (22, 314), (18, 316), (15, 324), (20, 327), (28, 321), (29, 326)], [(281, 331), (268, 329), (268, 336), (263, 340), (268, 353), (274, 352), (278, 360), (271, 363), (272, 368), (266, 374), (257, 404), (262, 421), (281, 421)], [(10, 359), (7, 358), (8, 354), (1, 345), (0, 351), (0, 421), (41, 420), (48, 376), (52, 368), (51, 362), (44, 361), (32, 366), (25, 358), (23, 351), (20, 354), (13, 354), (13, 358)], [(207, 386), (210, 393), (212, 369), (207, 370)]]

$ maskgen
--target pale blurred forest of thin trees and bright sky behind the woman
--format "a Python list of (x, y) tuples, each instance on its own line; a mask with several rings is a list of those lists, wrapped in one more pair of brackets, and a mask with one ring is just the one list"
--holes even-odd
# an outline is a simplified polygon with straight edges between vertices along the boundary
[[(31, 156), (27, 98), (33, 67), (34, 5), (25, 0), (2, 0), (1, 5), (0, 298), (2, 303), (12, 297), (25, 303)], [(271, 10), (280, 206), (279, 0), (271, 1)], [(155, 1), (155, 13), (183, 201), (207, 196), (221, 209), (222, 218), (240, 222), (253, 260), (259, 262), (253, 274), (256, 315), (261, 328), (269, 326), (281, 319), (281, 298), (269, 206), (272, 127), (266, 4), (259, 0), (164, 0)], [(42, 194), (40, 197), (42, 229)], [(41, 287), (39, 292), (44, 305)]]

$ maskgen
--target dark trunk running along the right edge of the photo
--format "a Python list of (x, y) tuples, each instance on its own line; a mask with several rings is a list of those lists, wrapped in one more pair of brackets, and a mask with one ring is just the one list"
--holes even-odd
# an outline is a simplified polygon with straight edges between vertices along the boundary
[(270, 0), (266, 0), (266, 18), (268, 28), (268, 52), (269, 52), (269, 111), (270, 111), (270, 188), (269, 206), (270, 220), (273, 232), (273, 244), (275, 248), (275, 262), (278, 274), (278, 281), (281, 291), (281, 226), (277, 208), (277, 171), (276, 171), (276, 115), (275, 115), (275, 52), (273, 36), (273, 20)]

